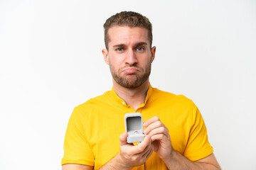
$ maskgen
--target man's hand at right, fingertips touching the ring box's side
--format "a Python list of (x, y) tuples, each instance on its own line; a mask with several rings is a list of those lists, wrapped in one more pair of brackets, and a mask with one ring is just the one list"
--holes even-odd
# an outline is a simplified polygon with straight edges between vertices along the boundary
[(146, 127), (144, 134), (151, 137), (154, 152), (161, 159), (167, 159), (173, 151), (168, 128), (166, 128), (164, 123), (161, 123), (157, 116), (146, 120), (143, 125)]

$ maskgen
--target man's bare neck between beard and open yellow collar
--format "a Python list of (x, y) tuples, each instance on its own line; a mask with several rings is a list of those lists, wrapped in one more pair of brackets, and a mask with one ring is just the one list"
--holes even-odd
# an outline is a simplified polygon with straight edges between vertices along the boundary
[(146, 99), (146, 92), (149, 89), (149, 79), (147, 79), (141, 86), (133, 89), (120, 86), (113, 79), (113, 87), (116, 94), (136, 111)]

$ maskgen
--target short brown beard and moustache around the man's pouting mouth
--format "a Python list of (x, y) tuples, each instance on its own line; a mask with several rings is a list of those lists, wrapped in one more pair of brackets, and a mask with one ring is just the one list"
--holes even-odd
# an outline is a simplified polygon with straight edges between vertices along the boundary
[(134, 89), (137, 88), (139, 86), (141, 86), (142, 84), (144, 84), (144, 82), (149, 79), (149, 75), (151, 72), (151, 61), (149, 61), (148, 64), (146, 64), (145, 69), (142, 69), (141, 67), (136, 67), (136, 66), (132, 66), (136, 69), (139, 70), (139, 72), (142, 72), (142, 75), (139, 74), (124, 74), (124, 76), (120, 76), (119, 73), (122, 72), (122, 69), (118, 69), (118, 72), (114, 71), (114, 67), (112, 66), (112, 64), (110, 63), (110, 72), (112, 74), (112, 77), (114, 79), (114, 81), (117, 82), (117, 84), (119, 84), (120, 86), (123, 86), (125, 88), (129, 88), (129, 89)]

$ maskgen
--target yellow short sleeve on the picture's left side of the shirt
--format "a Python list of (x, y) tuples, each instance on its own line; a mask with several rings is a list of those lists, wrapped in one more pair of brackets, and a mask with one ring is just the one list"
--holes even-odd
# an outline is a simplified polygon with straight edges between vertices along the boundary
[(94, 166), (95, 157), (85, 137), (80, 111), (74, 109), (64, 140), (64, 156), (61, 164), (85, 164)]

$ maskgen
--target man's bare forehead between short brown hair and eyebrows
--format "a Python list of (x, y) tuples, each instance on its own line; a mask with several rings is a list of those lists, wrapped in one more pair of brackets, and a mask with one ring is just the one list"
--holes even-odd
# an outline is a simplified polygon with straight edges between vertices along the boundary
[(109, 45), (146, 42), (149, 44), (148, 30), (141, 27), (112, 26), (108, 30)]

